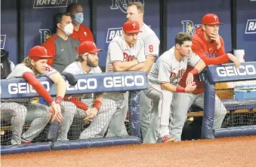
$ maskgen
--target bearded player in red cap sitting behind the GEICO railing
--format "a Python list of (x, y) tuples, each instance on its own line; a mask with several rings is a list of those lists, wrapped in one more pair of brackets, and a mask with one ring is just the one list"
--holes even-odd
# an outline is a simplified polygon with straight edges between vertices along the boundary
[[(97, 49), (94, 42), (83, 42), (79, 45), (79, 56), (76, 57), (76, 62), (68, 65), (63, 72), (71, 74), (101, 73), (97, 56), (99, 51), (101, 50)], [(80, 139), (103, 137), (109, 121), (116, 111), (116, 104), (113, 100), (103, 99), (103, 93), (98, 93), (95, 98), (92, 93), (87, 93), (82, 95), (81, 100), (76, 96), (65, 96), (64, 100), (74, 103), (77, 110), (76, 108), (66, 110), (68, 106), (65, 106), (67, 112), (64, 113), (63, 122), (60, 123), (60, 135), (57, 138), (59, 141), (67, 140), (67, 133), (75, 116), (87, 117), (86, 119), (92, 121), (90, 126), (81, 133)]]

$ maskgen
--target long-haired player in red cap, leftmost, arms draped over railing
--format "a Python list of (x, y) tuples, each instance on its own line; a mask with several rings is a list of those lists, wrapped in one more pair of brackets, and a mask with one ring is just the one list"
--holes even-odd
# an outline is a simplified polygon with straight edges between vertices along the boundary
[[(48, 59), (51, 59), (51, 56), (48, 56), (45, 47), (32, 47), (29, 56), (24, 59), (23, 63), (18, 64), (7, 77), (7, 79), (23, 77), (40, 96), (51, 104), (51, 107), (48, 108), (46, 105), (30, 104), (32, 99), (2, 100), (5, 102), (2, 102), (1, 105), (1, 115), (6, 119), (11, 119), (13, 131), (11, 144), (29, 144), (42, 132), (51, 117), (53, 121), (57, 120), (58, 122), (63, 119), (60, 103), (66, 93), (66, 82), (59, 72), (47, 64)], [(55, 101), (35, 76), (47, 76), (57, 85)], [(20, 102), (28, 105), (21, 105)], [(29, 129), (21, 135), (25, 121), (32, 123)]]

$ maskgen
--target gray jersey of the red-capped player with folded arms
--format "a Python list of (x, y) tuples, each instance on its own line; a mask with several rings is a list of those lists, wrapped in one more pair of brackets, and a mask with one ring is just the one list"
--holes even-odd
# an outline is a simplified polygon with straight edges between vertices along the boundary
[(106, 56), (106, 72), (109, 72), (109, 62), (129, 62), (134, 59), (140, 59), (140, 62), (146, 62), (144, 53), (144, 42), (137, 38), (136, 44), (128, 47), (122, 36), (116, 37), (109, 44)]

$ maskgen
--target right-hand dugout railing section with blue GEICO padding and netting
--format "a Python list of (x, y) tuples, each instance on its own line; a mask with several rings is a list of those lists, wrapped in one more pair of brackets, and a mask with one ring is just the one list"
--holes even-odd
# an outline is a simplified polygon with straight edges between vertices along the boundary
[[(234, 64), (209, 65), (200, 79), (205, 80), (201, 137), (256, 135), (256, 62), (243, 62), (238, 69)], [(227, 109), (220, 129), (213, 129), (215, 93)]]

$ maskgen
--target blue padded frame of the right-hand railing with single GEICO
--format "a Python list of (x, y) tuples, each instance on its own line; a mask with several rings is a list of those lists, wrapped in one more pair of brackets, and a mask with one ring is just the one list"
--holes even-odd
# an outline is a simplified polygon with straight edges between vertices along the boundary
[[(214, 121), (214, 96), (215, 96), (215, 83), (241, 81), (241, 80), (255, 80), (256, 78), (256, 62), (243, 62), (239, 69), (231, 64), (225, 65), (209, 65), (206, 67), (205, 73), (201, 74), (200, 78), (205, 80), (205, 105), (204, 115), (202, 120), (202, 138), (218, 138), (224, 136), (234, 135), (248, 135), (256, 134), (254, 126), (237, 126), (230, 129), (216, 129), (215, 132), (212, 129)], [(233, 102), (233, 104), (232, 104)], [(240, 104), (240, 105), (239, 105)], [(224, 102), (227, 109), (251, 109), (255, 106), (254, 101), (248, 101), (242, 103), (237, 101)], [(234, 107), (233, 107), (234, 106)], [(246, 128), (245, 128), (246, 127)], [(248, 131), (248, 132), (247, 132)]]

